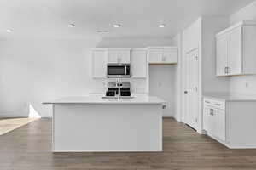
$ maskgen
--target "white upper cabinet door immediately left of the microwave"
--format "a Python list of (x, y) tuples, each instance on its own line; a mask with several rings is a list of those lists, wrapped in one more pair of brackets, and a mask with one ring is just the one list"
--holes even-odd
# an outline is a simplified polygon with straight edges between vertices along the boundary
[(92, 77), (105, 78), (106, 77), (106, 51), (95, 50), (92, 51)]

